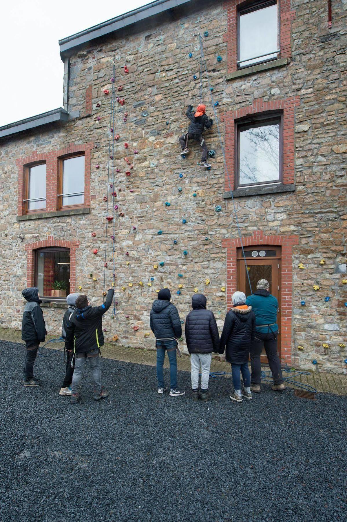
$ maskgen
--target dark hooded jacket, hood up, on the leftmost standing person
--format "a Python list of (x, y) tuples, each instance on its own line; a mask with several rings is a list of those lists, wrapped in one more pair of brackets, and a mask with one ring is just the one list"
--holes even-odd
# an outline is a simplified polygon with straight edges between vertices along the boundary
[(22, 339), (28, 348), (39, 345), (46, 338), (46, 324), (40, 307), (38, 287), (22, 290), (22, 296), (28, 302), (24, 308), (22, 319)]

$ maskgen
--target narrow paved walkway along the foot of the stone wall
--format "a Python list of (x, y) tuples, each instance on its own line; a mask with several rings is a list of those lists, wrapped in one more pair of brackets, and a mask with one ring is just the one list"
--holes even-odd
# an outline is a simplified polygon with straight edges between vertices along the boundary
[[(21, 333), (19, 330), (9, 330), (0, 328), (0, 339), (5, 341), (20, 342)], [(46, 339), (53, 339), (52, 336), (47, 336)], [(49, 348), (64, 349), (64, 343), (49, 343)], [(141, 348), (126, 348), (120, 345), (106, 344), (102, 348), (102, 355), (108, 359), (116, 359), (118, 361), (132, 362), (137, 364), (147, 364), (155, 366), (156, 353), (155, 350), (145, 350)], [(168, 360), (165, 358), (165, 367), (168, 367)], [(190, 372), (190, 359), (188, 355), (183, 354), (177, 360), (178, 370)], [(264, 371), (268, 368), (264, 367)], [(226, 372), (230, 373), (230, 365), (225, 362), (225, 359), (218, 355), (212, 359), (211, 372)], [(295, 381), (302, 384), (308, 384), (316, 388), (317, 392), (333, 393), (335, 395), (347, 395), (347, 375), (312, 372), (309, 375), (298, 375), (294, 377)], [(295, 388), (294, 385), (287, 383), (288, 387)]]

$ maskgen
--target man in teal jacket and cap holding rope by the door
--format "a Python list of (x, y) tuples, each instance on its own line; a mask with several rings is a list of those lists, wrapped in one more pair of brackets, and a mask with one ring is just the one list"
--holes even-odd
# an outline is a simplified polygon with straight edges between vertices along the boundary
[(281, 362), (277, 353), (278, 337), (278, 301), (269, 292), (269, 282), (260, 279), (257, 290), (249, 295), (246, 304), (252, 306), (255, 313), (255, 338), (251, 347), (251, 390), (260, 393), (262, 384), (261, 353), (265, 348), (274, 384), (271, 388), (275, 392), (284, 390)]

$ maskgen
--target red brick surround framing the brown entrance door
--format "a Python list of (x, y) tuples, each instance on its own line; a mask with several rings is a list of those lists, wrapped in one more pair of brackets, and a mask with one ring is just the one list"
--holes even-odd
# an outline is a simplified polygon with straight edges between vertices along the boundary
[[(299, 244), (298, 235), (264, 235), (261, 230), (242, 238), (243, 246), (281, 246), (281, 359), (292, 363), (292, 293), (293, 293), (293, 246)], [(237, 290), (237, 248), (240, 238), (224, 239), (222, 247), (227, 249), (227, 307), (232, 307), (231, 296)]]

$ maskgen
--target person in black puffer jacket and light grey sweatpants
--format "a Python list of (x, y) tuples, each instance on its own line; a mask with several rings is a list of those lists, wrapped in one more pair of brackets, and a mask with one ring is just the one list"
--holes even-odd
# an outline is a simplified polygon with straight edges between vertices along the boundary
[[(185, 342), (190, 353), (192, 366), (192, 399), (208, 400), (211, 393), (208, 390), (209, 369), (212, 352), (219, 351), (219, 333), (215, 316), (206, 310), (206, 297), (194, 294), (192, 308), (185, 319)], [(199, 396), (199, 372), (201, 366), (201, 395)]]

